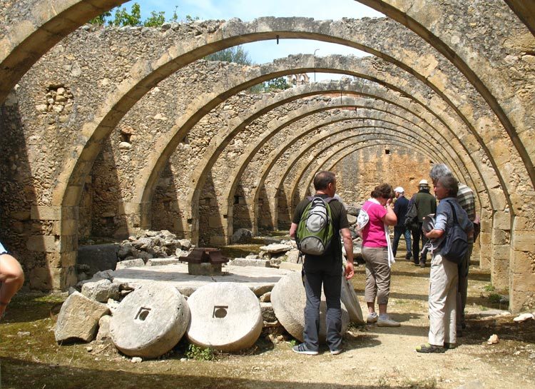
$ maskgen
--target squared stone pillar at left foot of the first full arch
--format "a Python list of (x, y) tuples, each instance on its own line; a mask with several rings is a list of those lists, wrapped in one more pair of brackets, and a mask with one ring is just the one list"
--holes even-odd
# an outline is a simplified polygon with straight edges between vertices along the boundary
[(65, 291), (76, 285), (78, 207), (32, 206), (31, 220), (34, 234), (26, 248), (44, 261), (31, 270), (30, 288)]

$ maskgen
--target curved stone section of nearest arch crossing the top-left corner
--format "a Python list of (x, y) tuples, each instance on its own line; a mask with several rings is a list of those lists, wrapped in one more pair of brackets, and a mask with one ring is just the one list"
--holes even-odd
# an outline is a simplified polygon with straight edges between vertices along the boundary
[[(24, 1), (31, 12), (19, 19), (9, 15), (13, 9), (2, 7), (2, 14), (11, 20), (6, 33), (0, 36), (0, 103), (17, 81), (46, 51), (91, 18), (126, 3), (127, 0), (39, 0)], [(23, 1), (16, 1), (20, 3)], [(21, 6), (24, 7), (24, 6)]]

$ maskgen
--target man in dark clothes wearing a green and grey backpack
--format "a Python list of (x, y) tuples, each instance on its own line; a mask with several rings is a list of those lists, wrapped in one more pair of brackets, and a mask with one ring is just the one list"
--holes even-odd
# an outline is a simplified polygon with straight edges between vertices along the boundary
[[(304, 343), (295, 345), (295, 353), (317, 355), (320, 342), (320, 301), (322, 286), (327, 303), (327, 345), (330, 353), (342, 352), (342, 245), (347, 253), (345, 277), (353, 276), (353, 241), (347, 213), (334, 198), (336, 177), (331, 171), (320, 171), (314, 177), (315, 196), (302, 200), (295, 209), (290, 236), (305, 253), (303, 283), (307, 295), (305, 305)], [(325, 216), (326, 215), (326, 216)]]

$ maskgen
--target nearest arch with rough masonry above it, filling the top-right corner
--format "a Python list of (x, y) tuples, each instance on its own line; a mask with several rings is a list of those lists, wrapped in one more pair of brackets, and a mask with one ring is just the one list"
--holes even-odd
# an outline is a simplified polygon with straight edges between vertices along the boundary
[[(506, 2), (434, 1), (430, 7), (414, 0), (357, 1), (422, 36), (467, 77), (498, 116), (534, 184), (535, 153), (529, 145), (534, 138), (535, 116), (529, 107), (535, 101), (535, 93), (526, 90), (526, 86), (534, 83), (535, 65), (527, 57), (533, 55), (535, 36)], [(518, 3), (508, 4), (527, 20), (524, 11), (532, 11), (533, 7), (520, 8)], [(451, 23), (452, 18), (469, 23), (471, 34), (467, 36), (463, 30), (466, 24)], [(519, 58), (523, 56), (527, 57)], [(517, 82), (519, 79), (524, 82)]]

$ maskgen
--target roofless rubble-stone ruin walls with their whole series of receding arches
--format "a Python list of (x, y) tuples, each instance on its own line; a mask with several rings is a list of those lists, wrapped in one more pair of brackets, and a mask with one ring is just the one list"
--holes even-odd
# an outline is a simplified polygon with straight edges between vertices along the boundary
[[(123, 238), (157, 227), (215, 245), (240, 227), (284, 228), (321, 168), (347, 177), (343, 193), (362, 201), (378, 172), (355, 177), (351, 168), (371, 158), (412, 161), (411, 174), (382, 181), (413, 188), (430, 163), (451, 166), (477, 192), (480, 266), (509, 288), (511, 310), (535, 305), (529, 6), (361, 0), (387, 18), (84, 25), (123, 2), (24, 0), (0, 11), (0, 240), (21, 259), (31, 288), (76, 283), (78, 240), (91, 234)], [(369, 56), (300, 55), (261, 66), (203, 60), (277, 37)], [(247, 91), (312, 71), (355, 80)]]

